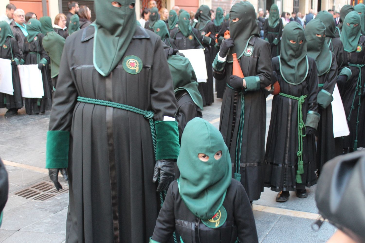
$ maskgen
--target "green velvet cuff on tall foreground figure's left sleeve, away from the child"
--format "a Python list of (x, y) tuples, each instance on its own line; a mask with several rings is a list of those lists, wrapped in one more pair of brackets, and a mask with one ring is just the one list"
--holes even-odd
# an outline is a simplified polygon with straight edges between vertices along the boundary
[(48, 131), (46, 142), (46, 168), (67, 168), (70, 132)]

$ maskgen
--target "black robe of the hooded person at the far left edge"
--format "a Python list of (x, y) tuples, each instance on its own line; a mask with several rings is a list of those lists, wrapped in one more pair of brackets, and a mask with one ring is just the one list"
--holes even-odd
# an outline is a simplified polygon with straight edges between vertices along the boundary
[[(4, 48), (4, 45), (6, 46), (6, 48)], [(10, 59), (10, 60), (18, 58), (19, 61), (20, 59), (23, 58), (20, 55), (18, 42), (16, 41), (16, 39), (8, 37), (4, 45), (0, 46), (0, 58)], [(23, 107), (22, 87), (20, 86), (19, 71), (18, 67), (16, 67), (15, 65), (15, 62), (12, 62), (11, 70), (13, 78), (14, 95), (0, 93), (0, 108), (6, 107), (8, 110), (20, 109)], [(4, 102), (5, 99), (6, 102)]]

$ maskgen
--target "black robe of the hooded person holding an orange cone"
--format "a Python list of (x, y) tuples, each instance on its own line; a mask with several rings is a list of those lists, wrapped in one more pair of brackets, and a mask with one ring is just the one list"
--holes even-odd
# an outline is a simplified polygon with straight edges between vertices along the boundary
[[(264, 88), (271, 84), (270, 44), (254, 36), (249, 42), (253, 47), (251, 56), (242, 55), (239, 59), (245, 77), (260, 78), (260, 89), (244, 94), (244, 125), (241, 149), (241, 183), (250, 201), (258, 200), (264, 191), (264, 155), (266, 130), (266, 99)], [(216, 82), (227, 82), (232, 75), (233, 63), (226, 62), (223, 71), (213, 69)], [(220, 110), (219, 130), (230, 150), (231, 160), (235, 161), (239, 121), (241, 119), (241, 95), (238, 91), (226, 88)], [(237, 125), (237, 126), (236, 126)], [(235, 168), (235, 167), (234, 167)], [(235, 171), (235, 170), (233, 170)]]

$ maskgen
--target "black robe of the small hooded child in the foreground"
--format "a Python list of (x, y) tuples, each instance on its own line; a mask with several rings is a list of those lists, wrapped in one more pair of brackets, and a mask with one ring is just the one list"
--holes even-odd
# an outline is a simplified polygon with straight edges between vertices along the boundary
[[(177, 181), (171, 183), (166, 200), (158, 215), (152, 239), (165, 243), (176, 231), (184, 243), (257, 243), (257, 231), (250, 202), (245, 188), (232, 179), (227, 189), (223, 207), (227, 220), (219, 228), (212, 229), (193, 215), (181, 199)], [(197, 224), (199, 223), (199, 230)], [(180, 240), (178, 239), (178, 242)]]

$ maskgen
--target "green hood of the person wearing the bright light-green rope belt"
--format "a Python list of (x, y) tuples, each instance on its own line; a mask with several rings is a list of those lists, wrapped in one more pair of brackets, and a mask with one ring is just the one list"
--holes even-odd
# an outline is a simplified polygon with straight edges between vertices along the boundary
[[(313, 20), (311, 20), (312, 22)], [(296, 43), (290, 43), (294, 40)], [(299, 42), (303, 40), (303, 43)], [(285, 82), (297, 85), (308, 75), (307, 40), (303, 27), (295, 22), (289, 22), (283, 30), (279, 56), (280, 73)]]

